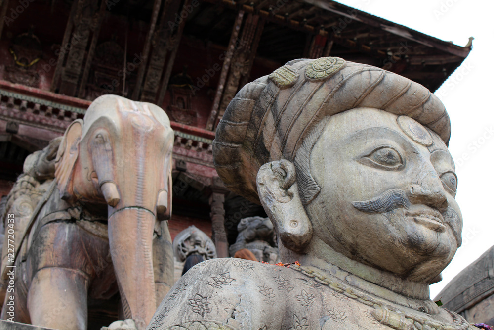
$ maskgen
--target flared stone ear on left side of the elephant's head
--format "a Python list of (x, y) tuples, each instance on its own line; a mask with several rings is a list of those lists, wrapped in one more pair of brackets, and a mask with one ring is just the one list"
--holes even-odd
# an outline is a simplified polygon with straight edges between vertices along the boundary
[(79, 155), (82, 134), (82, 119), (74, 120), (65, 131), (55, 159), (55, 178), (60, 197), (68, 200), (73, 196), (72, 173)]

